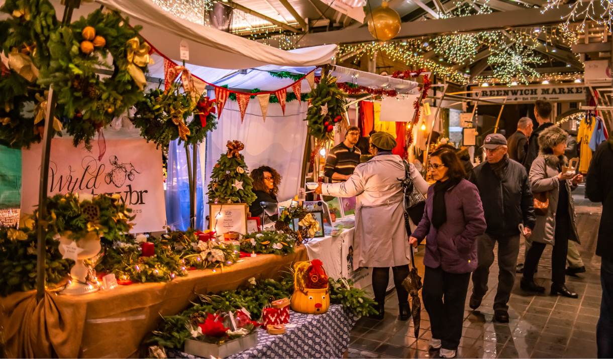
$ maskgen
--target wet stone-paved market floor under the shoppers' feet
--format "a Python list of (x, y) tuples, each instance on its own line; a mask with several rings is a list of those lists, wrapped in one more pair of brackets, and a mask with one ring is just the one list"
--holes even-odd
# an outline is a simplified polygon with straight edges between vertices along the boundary
[[(573, 193), (577, 205), (577, 224), (582, 245), (579, 246), (587, 273), (566, 277), (569, 289), (578, 299), (550, 297), (551, 246), (543, 253), (535, 281), (547, 288), (546, 293), (531, 295), (519, 288), (521, 274), (509, 301), (509, 323), (492, 322), (498, 267), (490, 270), (490, 290), (478, 311), (468, 307), (472, 284), (468, 289), (465, 320), (458, 358), (596, 358), (596, 321), (600, 311), (600, 257), (594, 252), (600, 222), (600, 203), (584, 198), (580, 186)], [(416, 265), (423, 276), (423, 246), (416, 255)], [(524, 260), (524, 246), (519, 262)], [(420, 293), (421, 294), (421, 293)], [(350, 358), (438, 358), (438, 351), (428, 351), (431, 337), (428, 313), (422, 308), (421, 329), (414, 336), (413, 320), (398, 320), (395, 291), (386, 299), (383, 320), (362, 318), (351, 331)]]

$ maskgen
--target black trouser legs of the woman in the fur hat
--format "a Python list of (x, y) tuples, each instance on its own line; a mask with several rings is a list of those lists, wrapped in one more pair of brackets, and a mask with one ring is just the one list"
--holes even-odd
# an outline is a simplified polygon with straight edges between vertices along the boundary
[[(566, 254), (568, 254), (570, 220), (569, 214), (566, 213), (555, 218), (554, 249), (551, 254), (551, 281), (555, 284), (564, 284), (566, 281)], [(534, 280), (536, 266), (546, 245), (545, 243), (532, 242), (524, 263), (525, 280)]]

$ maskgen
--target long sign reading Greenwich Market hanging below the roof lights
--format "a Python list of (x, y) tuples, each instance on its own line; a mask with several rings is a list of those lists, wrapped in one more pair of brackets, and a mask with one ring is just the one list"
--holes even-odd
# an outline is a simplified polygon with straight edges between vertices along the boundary
[[(534, 102), (536, 100), (549, 100), (552, 102), (585, 102), (585, 86), (581, 83), (568, 83), (559, 85), (534, 85), (534, 86), (492, 86), (479, 87), (479, 93), (473, 93), (473, 97), (507, 96), (506, 103)], [(504, 99), (492, 99), (504, 102)]]

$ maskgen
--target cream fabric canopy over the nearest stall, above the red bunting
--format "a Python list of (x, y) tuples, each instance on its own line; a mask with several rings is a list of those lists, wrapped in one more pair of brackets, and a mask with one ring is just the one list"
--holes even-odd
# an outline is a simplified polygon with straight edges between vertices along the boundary
[[(186, 62), (194, 65), (217, 69), (250, 69), (270, 64), (316, 66), (332, 62), (337, 51), (337, 45), (299, 48), (291, 52), (280, 50), (175, 17), (151, 0), (96, 1), (129, 17), (130, 25), (141, 25), (140, 35), (171, 59), (180, 58), (180, 42), (185, 40), (189, 45), (189, 61)], [(51, 3), (61, 18), (64, 6), (59, 0), (51, 0)], [(74, 10), (73, 20), (87, 16), (98, 9), (99, 4), (82, 2), (80, 8)]]

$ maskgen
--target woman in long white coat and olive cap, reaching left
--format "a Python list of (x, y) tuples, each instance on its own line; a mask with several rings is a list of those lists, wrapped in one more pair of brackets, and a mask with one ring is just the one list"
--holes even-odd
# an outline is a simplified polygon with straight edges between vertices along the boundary
[[(402, 206), (402, 186), (405, 177), (402, 158), (392, 154), (395, 138), (386, 132), (370, 137), (373, 158), (357, 165), (346, 182), (320, 183), (316, 192), (335, 197), (356, 196), (356, 230), (354, 234), (354, 268), (373, 267), (373, 291), (378, 303), (377, 319), (383, 319), (385, 293), (389, 282), (389, 268), (394, 273), (394, 284), (400, 306), (400, 320), (409, 319), (408, 292), (402, 281), (409, 274), (411, 245), (405, 229)], [(428, 184), (415, 166), (409, 164), (411, 178), (422, 194)], [(411, 223), (411, 229), (416, 225)]]

